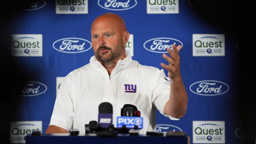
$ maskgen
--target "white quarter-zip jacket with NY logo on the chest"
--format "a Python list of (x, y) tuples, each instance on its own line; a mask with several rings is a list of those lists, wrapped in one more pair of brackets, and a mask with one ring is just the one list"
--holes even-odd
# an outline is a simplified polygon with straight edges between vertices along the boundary
[(84, 134), (85, 124), (98, 121), (100, 103), (110, 102), (114, 127), (117, 117), (121, 116), (121, 108), (131, 104), (143, 117), (143, 128), (139, 133), (146, 134), (156, 130), (156, 110), (172, 120), (179, 120), (164, 114), (169, 95), (170, 81), (164, 70), (139, 64), (132, 60), (128, 51), (126, 58), (118, 61), (110, 76), (92, 56), (89, 64), (71, 71), (63, 79), (49, 125), (66, 130), (76, 128)]

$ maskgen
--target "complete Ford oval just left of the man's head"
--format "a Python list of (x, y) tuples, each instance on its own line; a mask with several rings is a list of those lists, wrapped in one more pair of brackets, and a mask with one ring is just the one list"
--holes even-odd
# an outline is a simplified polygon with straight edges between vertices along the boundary
[(82, 38), (62, 38), (53, 43), (53, 48), (63, 53), (82, 53), (91, 47), (91, 42)]

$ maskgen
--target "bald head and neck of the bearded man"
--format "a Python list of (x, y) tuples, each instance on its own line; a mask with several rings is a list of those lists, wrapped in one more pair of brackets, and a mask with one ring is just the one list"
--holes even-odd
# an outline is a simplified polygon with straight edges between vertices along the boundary
[[(98, 16), (91, 26), (91, 42), (95, 58), (105, 66), (113, 69), (118, 60), (126, 57), (125, 44), (129, 32), (121, 16), (106, 13)], [(110, 72), (111, 73), (111, 72)]]

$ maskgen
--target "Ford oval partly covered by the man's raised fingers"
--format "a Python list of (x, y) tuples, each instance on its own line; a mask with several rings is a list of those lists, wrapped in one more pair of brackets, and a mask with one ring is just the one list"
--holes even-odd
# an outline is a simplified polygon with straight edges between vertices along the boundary
[(174, 43), (176, 46), (180, 44), (181, 48), (183, 47), (181, 41), (167, 37), (149, 39), (148, 41), (144, 42), (143, 46), (146, 50), (153, 53), (168, 53), (166, 49), (170, 48), (173, 50), (172, 44)]

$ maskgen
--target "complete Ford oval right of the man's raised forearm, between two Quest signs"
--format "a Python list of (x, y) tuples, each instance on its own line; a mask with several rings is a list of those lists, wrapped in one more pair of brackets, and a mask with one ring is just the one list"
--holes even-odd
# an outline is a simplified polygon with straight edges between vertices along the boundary
[(221, 81), (204, 80), (193, 83), (190, 91), (203, 96), (216, 96), (224, 94), (229, 90), (229, 86)]

